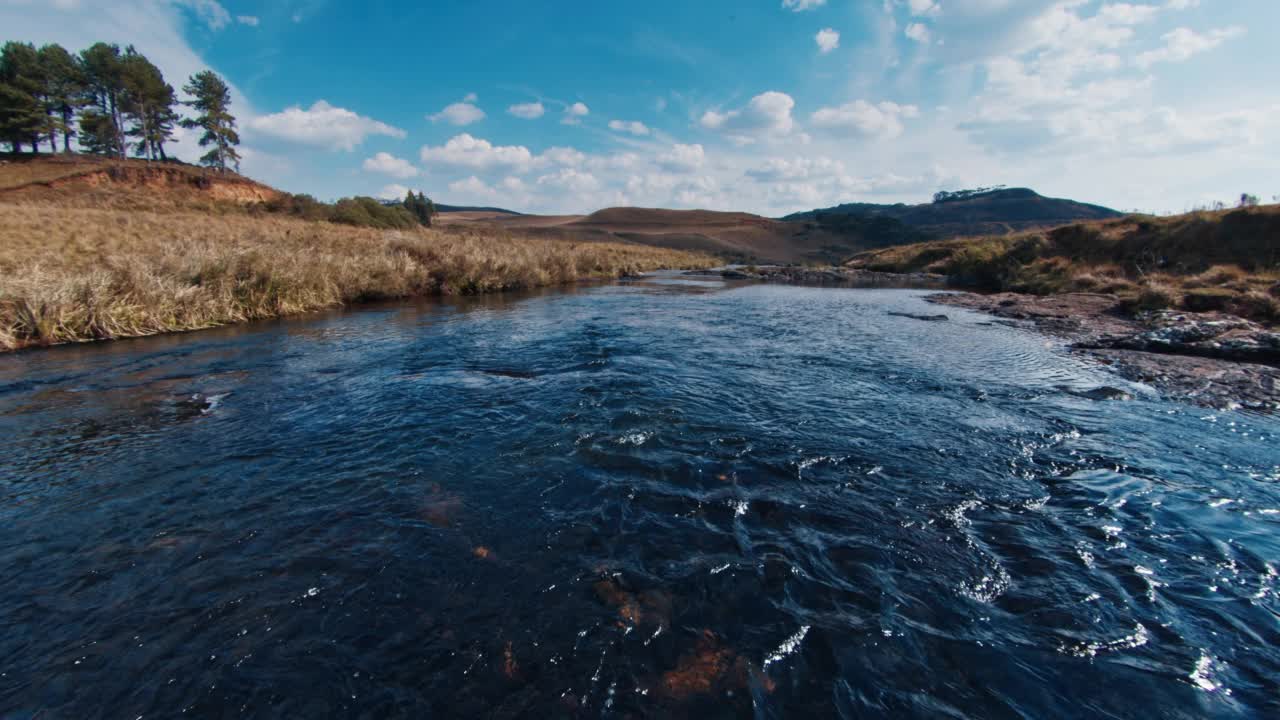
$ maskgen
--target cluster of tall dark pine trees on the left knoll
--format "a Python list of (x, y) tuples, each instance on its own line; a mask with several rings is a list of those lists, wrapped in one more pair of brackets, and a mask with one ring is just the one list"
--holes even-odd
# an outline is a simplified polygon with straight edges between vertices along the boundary
[[(0, 49), (0, 142), (14, 152), (81, 151), (108, 158), (168, 160), (174, 129), (202, 131), (202, 165), (239, 170), (239, 135), (230, 114), (230, 88), (210, 70), (191, 76), (179, 101), (172, 85), (132, 45), (95, 44), (78, 55), (60, 45), (36, 49), (5, 42)], [(195, 110), (183, 118), (179, 106)]]

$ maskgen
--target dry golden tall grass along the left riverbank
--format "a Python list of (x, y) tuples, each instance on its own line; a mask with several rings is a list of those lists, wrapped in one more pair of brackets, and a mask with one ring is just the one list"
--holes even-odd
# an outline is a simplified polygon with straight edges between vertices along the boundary
[(0, 348), (714, 264), (639, 245), (0, 204)]

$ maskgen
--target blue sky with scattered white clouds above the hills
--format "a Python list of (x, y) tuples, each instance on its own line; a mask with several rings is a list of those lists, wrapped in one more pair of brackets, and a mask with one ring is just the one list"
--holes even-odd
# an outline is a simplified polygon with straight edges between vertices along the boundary
[[(333, 199), (763, 214), (1030, 186), (1280, 195), (1274, 0), (0, 0), (234, 87), (244, 172)], [(195, 159), (192, 137), (178, 155)]]

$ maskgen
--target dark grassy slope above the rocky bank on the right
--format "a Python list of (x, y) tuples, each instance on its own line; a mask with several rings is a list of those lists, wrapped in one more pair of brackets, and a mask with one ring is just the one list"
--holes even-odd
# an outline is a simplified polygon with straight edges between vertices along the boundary
[(932, 272), (986, 291), (1105, 292), (1140, 309), (1280, 319), (1280, 206), (1129, 217), (854, 256), (868, 270)]

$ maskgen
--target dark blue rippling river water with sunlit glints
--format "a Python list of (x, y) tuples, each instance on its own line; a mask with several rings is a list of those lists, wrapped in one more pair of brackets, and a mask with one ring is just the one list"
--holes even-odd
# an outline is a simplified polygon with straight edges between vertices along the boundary
[(1277, 716), (1280, 421), (920, 296), (3, 357), (0, 717)]

